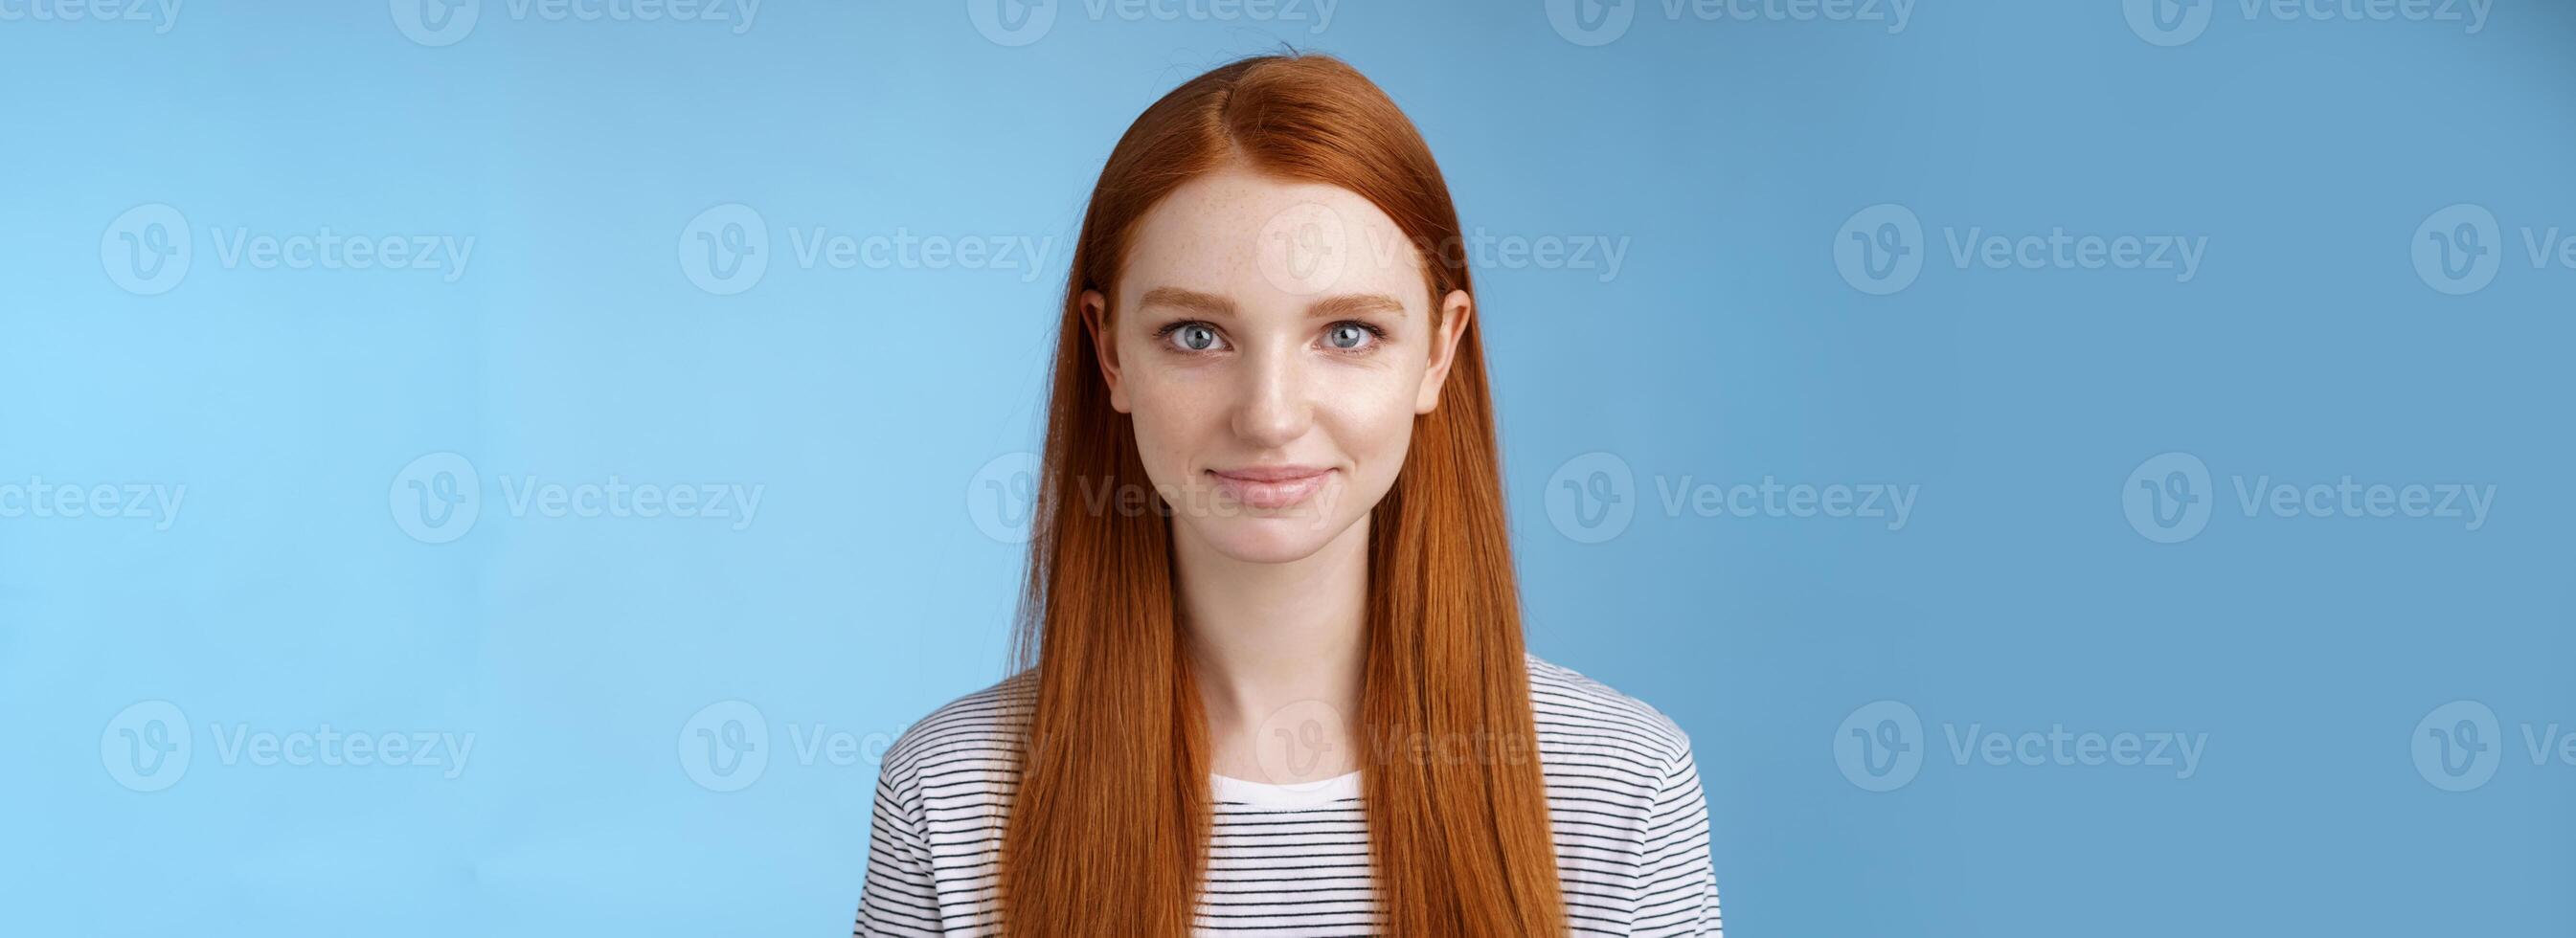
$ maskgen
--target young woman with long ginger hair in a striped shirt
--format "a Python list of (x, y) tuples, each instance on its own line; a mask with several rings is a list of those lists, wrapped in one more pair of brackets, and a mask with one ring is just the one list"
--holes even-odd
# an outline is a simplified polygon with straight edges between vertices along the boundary
[(1020, 618), (886, 752), (860, 935), (1718, 933), (1690, 740), (1522, 652), (1458, 214), (1337, 59), (1100, 170)]

